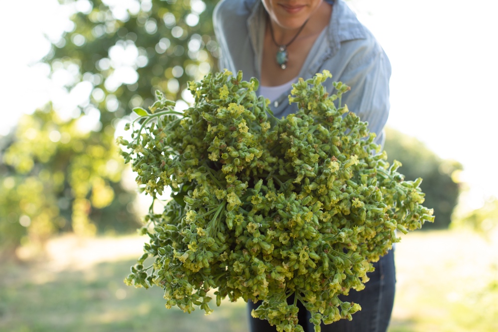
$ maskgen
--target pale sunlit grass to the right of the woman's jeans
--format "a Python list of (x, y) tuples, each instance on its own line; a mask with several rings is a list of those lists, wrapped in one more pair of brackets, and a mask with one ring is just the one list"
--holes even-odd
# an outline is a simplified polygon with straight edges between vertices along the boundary
[(498, 238), (415, 232), (397, 244), (389, 332), (498, 331)]

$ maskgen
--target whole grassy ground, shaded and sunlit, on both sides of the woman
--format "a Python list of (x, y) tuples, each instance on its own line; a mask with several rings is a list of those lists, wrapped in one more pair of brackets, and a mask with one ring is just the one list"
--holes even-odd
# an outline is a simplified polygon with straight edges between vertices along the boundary
[[(45, 258), (0, 266), (0, 331), (246, 332), (244, 302), (210, 316), (164, 308), (160, 289), (126, 287), (142, 239), (51, 241)], [(29, 256), (29, 250), (21, 252)], [(498, 240), (455, 231), (415, 232), (397, 244), (389, 332), (498, 331)], [(495, 269), (493, 268), (495, 264)]]

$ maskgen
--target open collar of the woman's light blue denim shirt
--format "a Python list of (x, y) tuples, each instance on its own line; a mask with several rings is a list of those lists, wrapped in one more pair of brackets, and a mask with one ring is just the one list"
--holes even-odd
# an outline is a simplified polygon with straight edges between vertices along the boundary
[[(266, 14), (261, 0), (245, 0), (245, 4), (250, 12), (247, 27), (249, 40), (256, 55), (254, 57), (255, 74), (259, 78), (261, 73), (264, 31), (266, 28)], [(367, 38), (365, 27), (343, 0), (335, 0), (333, 5), (334, 10), (332, 10), (330, 23), (315, 41), (301, 68), (300, 77), (314, 75), (326, 59), (333, 57), (339, 51), (342, 42)], [(320, 54), (319, 58), (314, 56), (317, 54)]]

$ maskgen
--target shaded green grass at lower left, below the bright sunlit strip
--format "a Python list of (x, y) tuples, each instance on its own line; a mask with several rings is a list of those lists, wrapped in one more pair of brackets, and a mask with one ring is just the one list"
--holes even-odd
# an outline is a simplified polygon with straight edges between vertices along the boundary
[(159, 288), (126, 287), (123, 278), (133, 263), (106, 262), (54, 275), (37, 265), (3, 266), (0, 331), (177, 332), (200, 326), (201, 331), (245, 331), (243, 303), (224, 303), (210, 316), (200, 310), (188, 315), (165, 309)]

